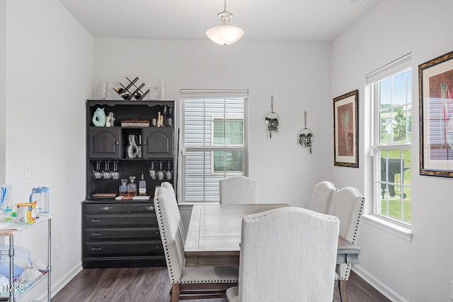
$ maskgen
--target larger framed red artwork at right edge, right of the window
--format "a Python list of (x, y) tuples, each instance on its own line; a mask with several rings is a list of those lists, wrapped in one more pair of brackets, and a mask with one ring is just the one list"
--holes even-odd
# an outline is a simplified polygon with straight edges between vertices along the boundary
[(420, 175), (453, 178), (453, 51), (418, 65)]

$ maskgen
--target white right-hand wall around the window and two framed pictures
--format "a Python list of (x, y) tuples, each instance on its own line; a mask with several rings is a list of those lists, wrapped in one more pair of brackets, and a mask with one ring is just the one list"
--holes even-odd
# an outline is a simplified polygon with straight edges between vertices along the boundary
[[(453, 1), (449, 0), (382, 0), (332, 45), (331, 98), (357, 88), (360, 98), (360, 168), (331, 165), (333, 181), (338, 187), (353, 185), (365, 192), (365, 197), (371, 196), (364, 168), (369, 166), (365, 75), (412, 52), (413, 240), (408, 242), (367, 223), (362, 223), (358, 240), (362, 247), (360, 267), (368, 277), (382, 282), (377, 285), (394, 294), (396, 301), (449, 301), (453, 180), (419, 175), (417, 113), (418, 64), (453, 50), (452, 12)], [(333, 144), (330, 146), (332, 149)]]

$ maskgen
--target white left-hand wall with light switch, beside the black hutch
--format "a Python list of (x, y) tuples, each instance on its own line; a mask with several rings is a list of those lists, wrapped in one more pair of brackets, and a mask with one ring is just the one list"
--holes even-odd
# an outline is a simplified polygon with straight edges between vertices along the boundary
[[(93, 37), (57, 0), (7, 0), (6, 16), (6, 182), (13, 185), (14, 203), (28, 201), (32, 187), (50, 187), (55, 288), (81, 267), (85, 100), (93, 82)], [(0, 138), (1, 132), (0, 126)], [(27, 180), (24, 162), (31, 165)], [(16, 243), (30, 248), (33, 258), (46, 260), (47, 245), (38, 235), (21, 234)], [(57, 244), (61, 255), (56, 260)]]

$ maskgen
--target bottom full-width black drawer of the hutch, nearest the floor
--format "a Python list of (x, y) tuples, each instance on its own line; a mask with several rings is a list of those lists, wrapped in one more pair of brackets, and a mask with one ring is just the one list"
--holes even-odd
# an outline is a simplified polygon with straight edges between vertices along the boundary
[(85, 255), (149, 255), (162, 253), (160, 240), (85, 243)]

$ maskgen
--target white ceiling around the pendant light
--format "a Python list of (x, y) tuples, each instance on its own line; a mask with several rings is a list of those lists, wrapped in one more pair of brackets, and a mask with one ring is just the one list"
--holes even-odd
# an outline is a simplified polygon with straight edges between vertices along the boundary
[[(59, 0), (93, 37), (207, 40), (222, 0)], [(331, 42), (381, 0), (227, 0), (242, 40)], [(360, 2), (360, 4), (356, 4)]]

